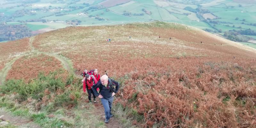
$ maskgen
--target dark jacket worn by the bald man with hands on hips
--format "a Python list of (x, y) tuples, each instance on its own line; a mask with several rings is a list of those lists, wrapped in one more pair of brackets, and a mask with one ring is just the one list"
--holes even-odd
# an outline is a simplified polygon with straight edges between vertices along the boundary
[[(115, 93), (117, 93), (118, 90), (119, 90), (120, 84), (118, 82), (114, 81), (114, 80), (112, 80), (112, 83), (113, 83), (114, 86), (116, 86)], [(102, 86), (102, 89), (101, 89), (100, 86)], [(103, 98), (109, 99), (109, 98), (112, 97), (112, 92), (110, 92), (110, 89), (109, 89), (110, 87), (111, 87), (111, 85), (110, 85), (109, 81), (108, 81), (108, 86), (107, 87), (102, 85), (101, 81), (99, 81), (97, 84), (94, 84), (92, 86), (92, 91), (94, 92), (95, 96), (99, 96), (101, 94), (103, 96)], [(97, 88), (100, 88), (100, 94), (97, 92), (97, 90), (96, 90)]]

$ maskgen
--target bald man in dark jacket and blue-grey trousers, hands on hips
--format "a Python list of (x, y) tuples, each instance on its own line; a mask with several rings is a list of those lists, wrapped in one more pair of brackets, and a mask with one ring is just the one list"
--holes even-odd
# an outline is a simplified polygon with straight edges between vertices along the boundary
[[(116, 86), (116, 89), (114, 88)], [(100, 77), (100, 81), (92, 86), (92, 91), (96, 96), (101, 99), (101, 103), (105, 110), (105, 123), (109, 122), (110, 117), (113, 117), (111, 113), (111, 107), (114, 100), (114, 95), (118, 92), (120, 84), (110, 78), (107, 75)], [(100, 88), (100, 94), (96, 91), (96, 88)]]

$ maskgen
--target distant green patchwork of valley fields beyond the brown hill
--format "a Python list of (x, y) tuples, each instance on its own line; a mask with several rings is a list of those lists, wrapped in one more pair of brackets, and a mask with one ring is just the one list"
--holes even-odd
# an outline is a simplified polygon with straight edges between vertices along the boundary
[[(248, 42), (256, 40), (255, 7), (254, 0), (9, 0), (0, 3), (0, 22), (26, 23), (34, 34), (67, 26), (161, 20), (219, 33), (232, 41)], [(254, 32), (243, 34), (229, 30)], [(16, 39), (9, 35), (1, 37)]]

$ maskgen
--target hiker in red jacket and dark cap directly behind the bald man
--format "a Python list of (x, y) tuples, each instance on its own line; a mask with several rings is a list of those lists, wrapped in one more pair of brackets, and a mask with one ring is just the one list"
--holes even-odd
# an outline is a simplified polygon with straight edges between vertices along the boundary
[[(89, 103), (91, 104), (92, 103), (92, 95), (93, 95), (93, 102), (96, 103), (96, 96), (94, 94), (94, 92), (92, 91), (92, 85), (93, 84), (97, 84), (97, 80), (94, 76), (91, 76), (89, 74), (86, 74), (84, 79), (82, 80), (83, 82), (83, 91), (86, 92), (87, 90), (87, 93), (88, 93), (88, 99), (89, 99)], [(86, 88), (86, 90), (85, 90)]]

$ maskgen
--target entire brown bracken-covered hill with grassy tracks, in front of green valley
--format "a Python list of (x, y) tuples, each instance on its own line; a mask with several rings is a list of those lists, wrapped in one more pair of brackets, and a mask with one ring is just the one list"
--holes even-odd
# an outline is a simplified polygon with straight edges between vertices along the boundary
[[(0, 50), (0, 107), (42, 127), (255, 126), (256, 50), (198, 28), (67, 27)], [(82, 92), (80, 74), (93, 68), (120, 82), (112, 124)]]

